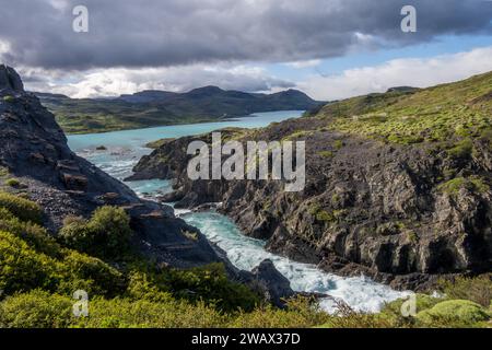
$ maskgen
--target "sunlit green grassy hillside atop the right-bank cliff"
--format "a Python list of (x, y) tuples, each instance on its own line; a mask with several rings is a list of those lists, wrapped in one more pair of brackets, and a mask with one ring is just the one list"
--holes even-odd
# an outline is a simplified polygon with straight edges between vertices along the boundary
[(492, 72), (415, 92), (391, 91), (332, 103), (315, 113), (329, 128), (397, 143), (488, 136)]

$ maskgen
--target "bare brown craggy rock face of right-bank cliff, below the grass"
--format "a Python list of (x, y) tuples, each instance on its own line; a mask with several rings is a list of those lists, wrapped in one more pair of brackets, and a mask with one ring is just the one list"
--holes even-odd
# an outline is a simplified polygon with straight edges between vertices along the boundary
[[(325, 131), (320, 122), (288, 120), (248, 139), (282, 140), (311, 130), (302, 192), (284, 192), (280, 182), (190, 182), (186, 147), (210, 142), (209, 135), (168, 141), (141, 160), (136, 177), (177, 178), (169, 197), (178, 206), (222, 202), (222, 212), (245, 234), (267, 240), (270, 252), (330, 272), (419, 290), (441, 275), (492, 270), (488, 141), (476, 139), (473, 154), (453, 159), (422, 144)], [(464, 186), (447, 188), (455, 179)]]

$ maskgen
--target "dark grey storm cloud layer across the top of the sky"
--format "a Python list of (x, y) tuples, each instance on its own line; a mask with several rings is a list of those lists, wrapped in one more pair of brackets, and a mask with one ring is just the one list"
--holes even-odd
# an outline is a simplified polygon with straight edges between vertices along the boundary
[[(11, 65), (48, 69), (294, 61), (358, 47), (401, 46), (444, 34), (491, 33), (482, 0), (0, 0)], [(72, 9), (90, 33), (72, 32)], [(418, 9), (417, 34), (400, 10)]]

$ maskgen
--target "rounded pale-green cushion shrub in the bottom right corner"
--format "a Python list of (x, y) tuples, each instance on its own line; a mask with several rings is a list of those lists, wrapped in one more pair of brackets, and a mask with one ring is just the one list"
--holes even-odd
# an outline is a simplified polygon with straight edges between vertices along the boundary
[(449, 300), (417, 314), (417, 320), (429, 327), (471, 327), (490, 319), (479, 304), (469, 300)]

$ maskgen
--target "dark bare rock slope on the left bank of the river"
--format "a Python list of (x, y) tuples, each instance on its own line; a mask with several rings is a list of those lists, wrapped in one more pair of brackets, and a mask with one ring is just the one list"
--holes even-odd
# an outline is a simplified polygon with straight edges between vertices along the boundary
[[(0, 66), (0, 166), (27, 185), (56, 234), (69, 214), (89, 217), (96, 208), (124, 207), (136, 231), (133, 246), (176, 267), (222, 261), (206, 237), (174, 217), (167, 206), (144, 201), (126, 185), (74, 154), (55, 117), (23, 90), (19, 74)], [(190, 240), (184, 232), (195, 232)]]

